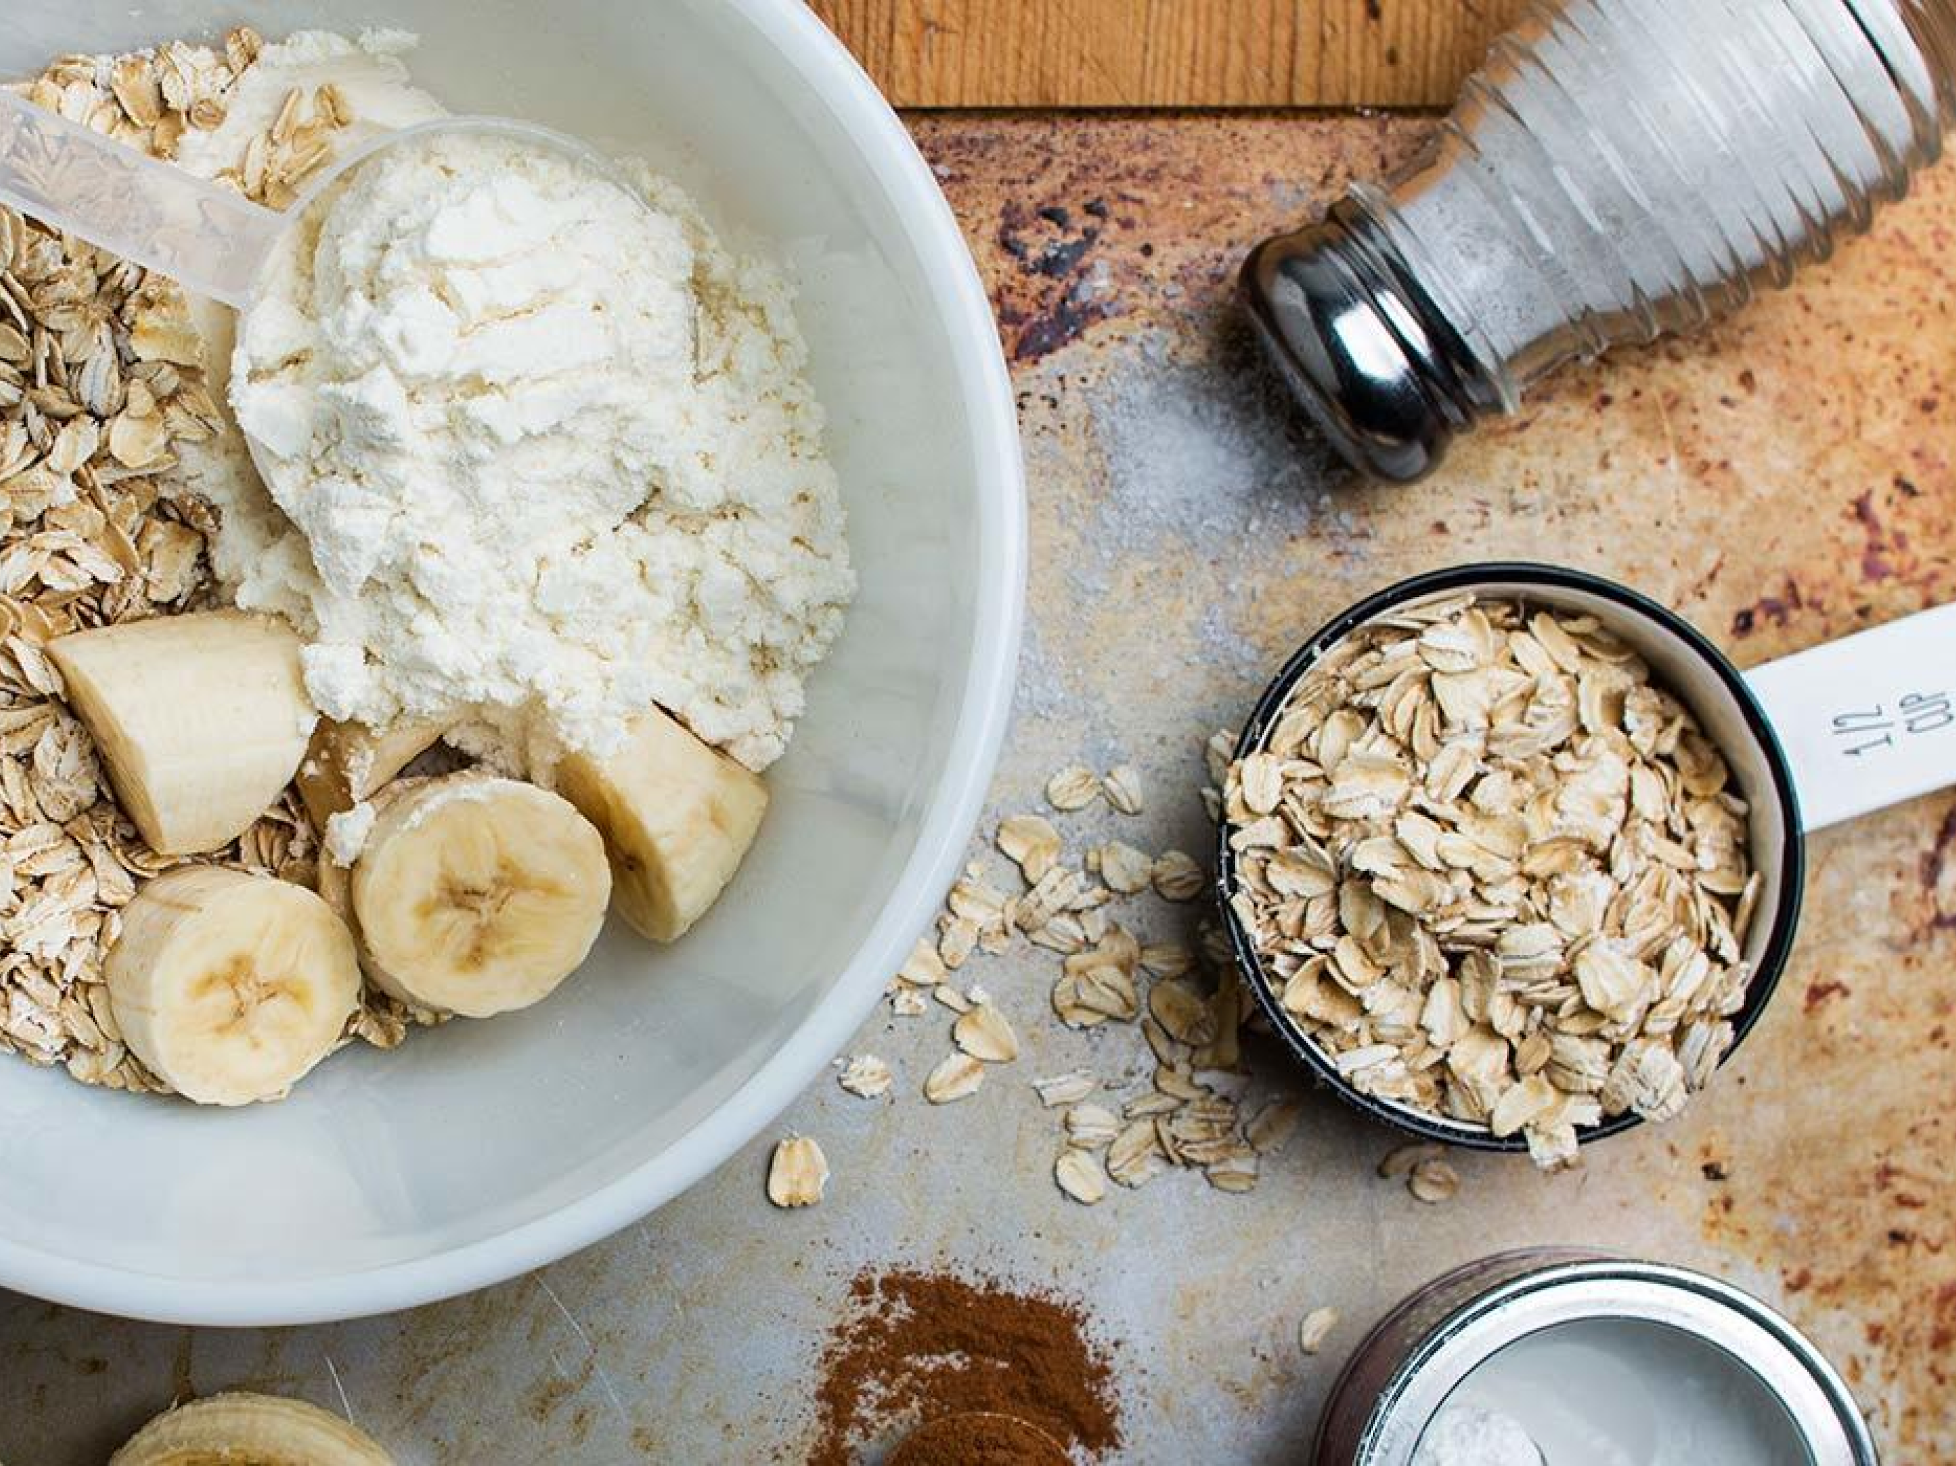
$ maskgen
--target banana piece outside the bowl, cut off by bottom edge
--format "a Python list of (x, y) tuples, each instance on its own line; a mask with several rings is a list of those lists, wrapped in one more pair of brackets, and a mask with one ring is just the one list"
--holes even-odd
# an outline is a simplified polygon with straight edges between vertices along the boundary
[(393, 1466), (393, 1456), (319, 1405), (233, 1392), (166, 1409), (110, 1466)]

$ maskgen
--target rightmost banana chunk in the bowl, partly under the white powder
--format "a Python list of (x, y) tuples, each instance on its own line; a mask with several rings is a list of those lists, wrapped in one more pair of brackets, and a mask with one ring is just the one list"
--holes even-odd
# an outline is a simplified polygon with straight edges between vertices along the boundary
[(604, 833), (618, 915), (673, 942), (734, 880), (761, 815), (761, 776), (653, 708), (610, 758), (571, 755), (557, 790)]

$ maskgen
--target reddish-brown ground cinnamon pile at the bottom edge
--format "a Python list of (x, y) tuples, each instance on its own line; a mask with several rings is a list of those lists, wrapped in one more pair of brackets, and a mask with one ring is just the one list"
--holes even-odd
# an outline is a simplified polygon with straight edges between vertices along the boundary
[(865, 1272), (829, 1333), (810, 1466), (919, 1421), (996, 1411), (1099, 1456), (1121, 1444), (1113, 1368), (1076, 1304), (937, 1272)]

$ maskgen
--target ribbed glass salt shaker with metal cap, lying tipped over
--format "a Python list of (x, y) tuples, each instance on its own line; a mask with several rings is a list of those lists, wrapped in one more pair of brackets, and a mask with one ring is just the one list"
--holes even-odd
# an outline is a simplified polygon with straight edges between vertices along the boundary
[(1410, 481), (1571, 360), (1784, 285), (1933, 162), (1956, 0), (1537, 0), (1434, 145), (1244, 264), (1354, 467)]

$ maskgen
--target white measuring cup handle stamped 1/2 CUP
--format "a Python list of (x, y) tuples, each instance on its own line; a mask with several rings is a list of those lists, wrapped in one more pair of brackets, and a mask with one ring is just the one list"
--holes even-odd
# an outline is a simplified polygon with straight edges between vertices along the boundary
[(1815, 831), (1956, 784), (1956, 604), (1745, 674)]

